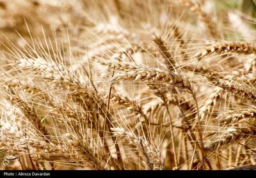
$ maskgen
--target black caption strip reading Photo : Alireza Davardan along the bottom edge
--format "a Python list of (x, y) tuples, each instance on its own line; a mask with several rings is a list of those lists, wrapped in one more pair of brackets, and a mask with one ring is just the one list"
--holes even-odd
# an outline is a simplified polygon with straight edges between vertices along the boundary
[[(141, 175), (141, 176), (191, 176), (195, 175), (196, 177), (204, 177), (209, 178), (208, 176), (219, 176), (219, 175), (227, 175), (227, 176), (255, 176), (256, 172), (253, 170), (0, 170), (0, 177), (86, 177), (86, 176), (106, 176), (111, 177), (120, 177), (120, 175), (131, 176), (131, 175)], [(206, 177), (205, 177), (206, 176)], [(96, 178), (96, 177), (90, 177)], [(135, 178), (135, 177), (130, 177)], [(142, 177), (141, 177), (142, 178)], [(156, 177), (161, 178), (161, 177)], [(219, 177), (216, 177), (219, 178)]]

